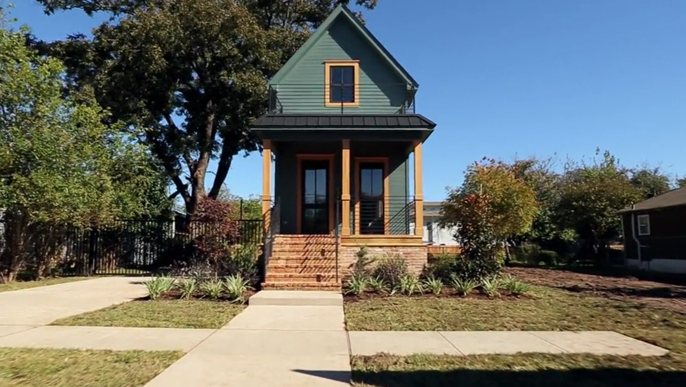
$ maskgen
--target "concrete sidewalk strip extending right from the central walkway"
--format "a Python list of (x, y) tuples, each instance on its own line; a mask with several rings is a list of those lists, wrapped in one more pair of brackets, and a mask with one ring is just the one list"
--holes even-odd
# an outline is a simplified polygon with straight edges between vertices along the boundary
[(611, 331), (348, 332), (352, 355), (592, 353), (661, 356), (669, 351)]

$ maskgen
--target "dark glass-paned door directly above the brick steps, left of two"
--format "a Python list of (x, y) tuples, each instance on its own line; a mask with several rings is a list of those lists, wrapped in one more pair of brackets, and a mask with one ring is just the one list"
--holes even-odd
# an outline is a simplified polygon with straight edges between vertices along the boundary
[(329, 233), (329, 161), (303, 160), (301, 181), (303, 234)]

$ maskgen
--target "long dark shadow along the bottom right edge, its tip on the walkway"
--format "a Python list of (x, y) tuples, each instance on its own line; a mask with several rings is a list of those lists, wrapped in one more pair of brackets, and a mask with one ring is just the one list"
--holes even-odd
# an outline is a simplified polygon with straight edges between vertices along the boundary
[[(294, 370), (297, 373), (348, 383), (344, 371)], [(353, 371), (352, 381), (375, 387), (674, 387), (683, 386), (686, 371), (636, 371), (629, 368), (504, 371)]]

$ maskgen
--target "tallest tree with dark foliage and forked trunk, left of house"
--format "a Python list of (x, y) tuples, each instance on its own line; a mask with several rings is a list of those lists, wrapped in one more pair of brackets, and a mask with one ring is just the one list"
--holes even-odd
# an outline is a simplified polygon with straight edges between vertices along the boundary
[[(216, 198), (233, 158), (259, 149), (248, 124), (265, 111), (266, 82), (338, 3), (350, 0), (39, 0), (47, 12), (108, 12), (93, 38), (38, 43), (67, 63), (71, 89), (92, 86), (113, 121), (174, 183), (187, 213)], [(355, 0), (374, 8), (377, 0)], [(211, 159), (217, 171), (205, 188)]]

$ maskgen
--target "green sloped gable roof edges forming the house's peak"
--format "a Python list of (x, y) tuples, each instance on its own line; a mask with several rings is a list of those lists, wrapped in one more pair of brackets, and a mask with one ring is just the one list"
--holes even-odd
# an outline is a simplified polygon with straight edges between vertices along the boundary
[(300, 61), (300, 59), (303, 58), (305, 54), (307, 54), (307, 51), (309, 51), (309, 49), (312, 46), (314, 46), (317, 40), (319, 40), (319, 38), (322, 35), (324, 35), (327, 32), (327, 30), (329, 30), (329, 27), (339, 17), (351, 23), (351, 25), (355, 27), (355, 29), (358, 30), (360, 34), (362, 34), (365, 40), (367, 40), (367, 42), (379, 52), (381, 57), (383, 57), (383, 59), (385, 59), (386, 62), (388, 62), (388, 65), (390, 65), (390, 67), (392, 67), (392, 69), (394, 69), (398, 73), (398, 75), (400, 75), (400, 77), (403, 78), (405, 82), (407, 82), (407, 84), (412, 85), (415, 89), (419, 87), (419, 84), (416, 80), (414, 80), (414, 78), (412, 78), (412, 75), (410, 75), (410, 73), (407, 73), (407, 70), (405, 70), (400, 65), (400, 63), (395, 58), (393, 58), (393, 56), (390, 54), (390, 52), (388, 52), (386, 47), (383, 47), (383, 45), (381, 45), (379, 40), (377, 40), (377, 38), (375, 38), (375, 36), (372, 35), (372, 33), (367, 29), (367, 27), (365, 27), (364, 24), (362, 24), (362, 22), (359, 21), (359, 19), (355, 17), (353, 12), (351, 12), (351, 10), (348, 10), (348, 7), (346, 7), (345, 5), (338, 5), (333, 10), (333, 12), (331, 12), (329, 17), (327, 17), (327, 19), (324, 20), (322, 25), (319, 26), (319, 28), (314, 32), (314, 34), (312, 34), (312, 36), (310, 36), (307, 39), (307, 41), (302, 46), (300, 46), (298, 51), (296, 51), (296, 53), (293, 54), (291, 58), (289, 58), (286, 64), (283, 65), (283, 67), (281, 67), (281, 69), (279, 69), (279, 71), (276, 72), (276, 75), (274, 75), (272, 80), (270, 80), (270, 84), (279, 83), (283, 79), (283, 77), (287, 73), (289, 73), (293, 69), (293, 67), (295, 67), (295, 65)]

